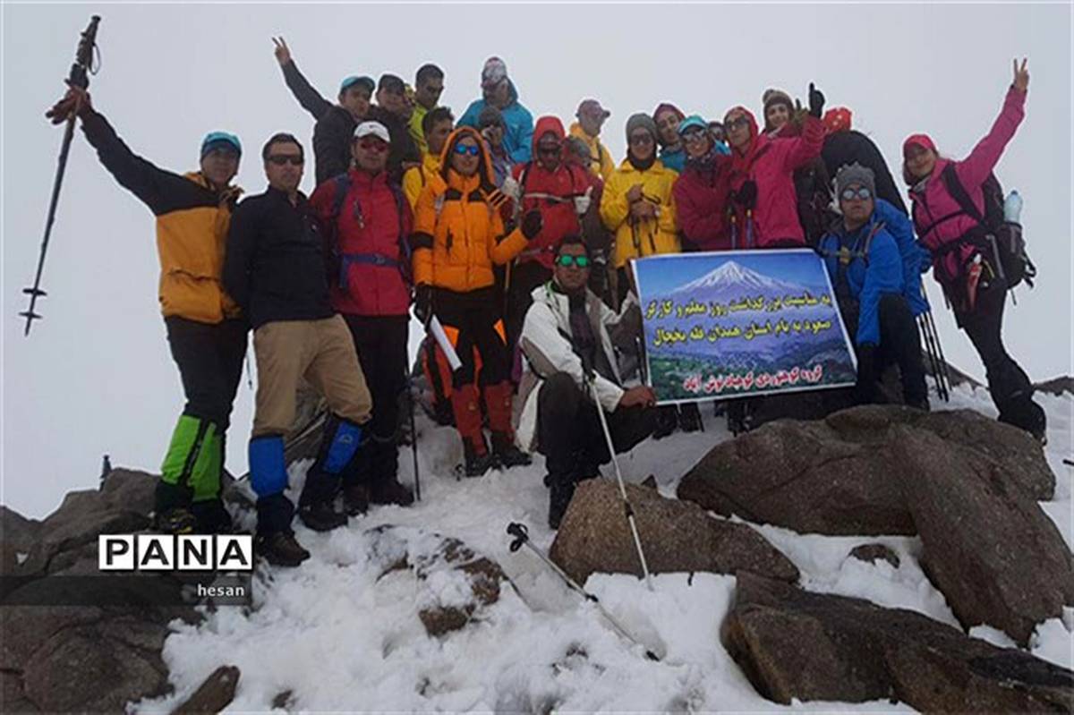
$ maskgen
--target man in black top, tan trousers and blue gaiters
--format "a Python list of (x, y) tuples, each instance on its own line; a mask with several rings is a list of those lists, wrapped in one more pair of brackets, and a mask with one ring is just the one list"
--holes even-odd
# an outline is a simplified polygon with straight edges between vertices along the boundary
[(261, 156), (268, 189), (235, 209), (223, 282), (253, 326), (258, 393), (250, 481), (258, 494), (258, 549), (272, 564), (297, 566), (309, 552), (291, 531), (284, 433), (294, 419), (299, 379), (309, 381), (331, 410), (299, 498), (299, 516), (314, 530), (347, 523), (332, 502), (340, 477), (353, 469), (373, 400), (347, 324), (329, 302), (323, 238), (299, 191), (302, 145), (276, 134)]

